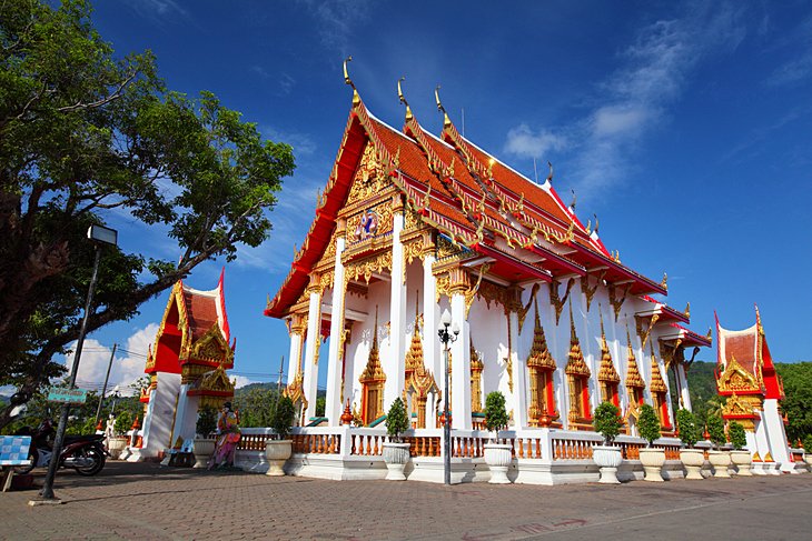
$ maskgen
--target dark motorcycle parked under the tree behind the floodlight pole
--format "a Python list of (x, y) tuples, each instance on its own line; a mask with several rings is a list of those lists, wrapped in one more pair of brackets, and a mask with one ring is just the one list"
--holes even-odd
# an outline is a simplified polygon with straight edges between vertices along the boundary
[[(28, 458), (30, 465), (17, 467), (18, 473), (29, 473), (34, 468), (48, 468), (53, 455), (53, 438), (56, 429), (50, 419), (46, 419), (32, 430), (23, 427), (17, 435), (30, 435), (31, 447)], [(106, 452), (103, 434), (66, 435), (62, 452), (59, 457), (60, 468), (72, 468), (80, 475), (96, 475), (105, 468)]]

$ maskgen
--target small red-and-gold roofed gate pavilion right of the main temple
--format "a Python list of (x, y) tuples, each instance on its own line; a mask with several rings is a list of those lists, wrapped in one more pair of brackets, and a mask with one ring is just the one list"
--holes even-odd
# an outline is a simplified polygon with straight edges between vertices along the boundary
[(727, 399), (722, 417), (744, 425), (747, 450), (756, 468), (774, 462), (781, 471), (794, 471), (785, 419), (779, 409), (784, 387), (775, 373), (759, 308), (753, 327), (730, 331), (716, 318), (716, 389)]

